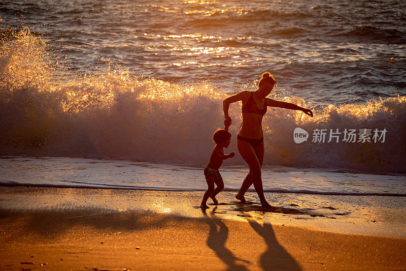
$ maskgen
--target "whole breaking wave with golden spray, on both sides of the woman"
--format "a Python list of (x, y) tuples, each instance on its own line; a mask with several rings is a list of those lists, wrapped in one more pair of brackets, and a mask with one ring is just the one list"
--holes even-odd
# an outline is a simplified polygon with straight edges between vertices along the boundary
[[(134, 77), (110, 66), (96, 75), (61, 77), (40, 38), (23, 31), (0, 55), (1, 154), (101, 157), (206, 164), (212, 134), (222, 127), (224, 95), (210, 82), (171, 83)], [(303, 107), (303, 99), (281, 97)], [(330, 105), (310, 118), (270, 108), (264, 117), (264, 164), (406, 172), (406, 97)], [(241, 108), (230, 150), (236, 150)], [(296, 144), (293, 130), (387, 129), (384, 143)], [(227, 160), (242, 164), (241, 157)]]

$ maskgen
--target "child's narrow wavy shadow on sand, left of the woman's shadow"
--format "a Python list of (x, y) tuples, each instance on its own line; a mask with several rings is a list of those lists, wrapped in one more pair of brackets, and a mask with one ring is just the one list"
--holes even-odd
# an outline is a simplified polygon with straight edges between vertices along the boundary
[[(236, 261), (244, 261), (249, 263), (249, 261), (235, 257), (231, 251), (225, 247), (225, 242), (228, 236), (228, 227), (224, 224), (221, 219), (215, 216), (214, 207), (209, 217), (206, 213), (206, 209), (202, 209), (202, 213), (206, 216), (206, 223), (210, 227), (209, 237), (207, 238), (207, 246), (211, 248), (225, 264), (228, 266), (228, 270), (247, 270), (247, 268), (241, 264), (236, 263)], [(219, 229), (217, 230), (217, 226)]]

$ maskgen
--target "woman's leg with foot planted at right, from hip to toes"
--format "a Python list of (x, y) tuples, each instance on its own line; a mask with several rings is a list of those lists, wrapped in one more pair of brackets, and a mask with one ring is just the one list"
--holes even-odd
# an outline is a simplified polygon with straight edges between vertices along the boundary
[[(237, 148), (240, 152), (240, 155), (243, 157), (243, 159), (247, 162), (248, 166), (250, 167), (252, 184), (254, 184), (255, 191), (258, 194), (262, 207), (272, 207), (266, 201), (265, 196), (263, 194), (262, 179), (261, 179), (261, 163), (257, 158), (254, 148), (251, 146), (249, 142), (243, 140), (237, 140)], [(247, 182), (249, 182), (249, 180), (247, 180)], [(243, 188), (245, 188), (245, 186)]]

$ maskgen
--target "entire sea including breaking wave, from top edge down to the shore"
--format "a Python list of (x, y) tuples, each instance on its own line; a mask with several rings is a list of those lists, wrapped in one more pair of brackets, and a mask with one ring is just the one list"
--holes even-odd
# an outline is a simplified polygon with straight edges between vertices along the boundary
[[(405, 37), (404, 1), (2, 1), (0, 155), (158, 163), (175, 179), (200, 182), (189, 167), (208, 162), (222, 100), (254, 91), (269, 71), (278, 81), (270, 98), (315, 115), (269, 108), (266, 191), (404, 194)], [(241, 105), (231, 105), (230, 115), (226, 152), (236, 151)], [(307, 141), (295, 143), (295, 128), (309, 133)], [(313, 142), (322, 129), (325, 141)], [(343, 140), (346, 129), (356, 131), (355, 142)], [(360, 140), (363, 129), (369, 142)], [(374, 140), (375, 129), (385, 138)], [(336, 131), (339, 142), (328, 142)], [(37, 166), (33, 172), (43, 168)], [(244, 161), (237, 154), (224, 166), (235, 181), (229, 189), (238, 188)], [(10, 170), (4, 184), (24, 183), (30, 174), (18, 178)], [(302, 180), (294, 184), (285, 171)], [(75, 174), (69, 176), (79, 182)], [(65, 182), (52, 176), (51, 183)], [(95, 184), (145, 188), (146, 179), (102, 176)], [(42, 184), (37, 177), (32, 184)], [(94, 183), (91, 175), (80, 178)], [(195, 186), (184, 184), (147, 187)]]

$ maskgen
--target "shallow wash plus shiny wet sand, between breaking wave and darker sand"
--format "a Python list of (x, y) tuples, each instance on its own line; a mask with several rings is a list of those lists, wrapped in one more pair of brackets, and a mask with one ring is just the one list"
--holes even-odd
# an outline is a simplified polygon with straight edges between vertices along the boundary
[[(29, 213), (83, 208), (96, 213), (132, 212), (141, 208), (157, 214), (201, 217), (198, 206), (207, 189), (203, 168), (134, 160), (0, 156), (0, 208)], [(224, 166), (220, 171), (225, 188), (217, 196), (219, 206), (208, 211), (216, 216), (406, 237), (404, 175), (264, 166), (265, 197), (276, 206), (266, 212), (252, 188), (245, 194), (252, 204), (238, 204), (235, 199), (248, 171), (245, 165)]]

